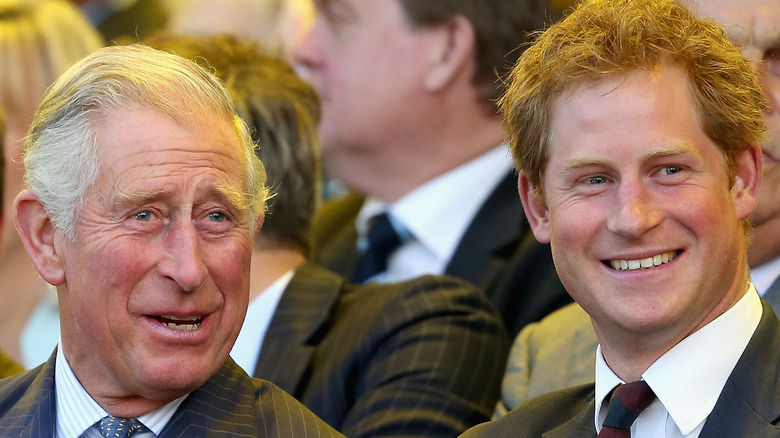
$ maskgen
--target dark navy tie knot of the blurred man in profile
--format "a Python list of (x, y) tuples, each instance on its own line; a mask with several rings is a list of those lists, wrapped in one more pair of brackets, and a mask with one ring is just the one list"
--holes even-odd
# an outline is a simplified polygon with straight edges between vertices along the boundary
[(365, 283), (377, 274), (387, 270), (387, 259), (403, 243), (387, 213), (375, 216), (368, 230), (367, 247), (360, 254), (354, 283)]

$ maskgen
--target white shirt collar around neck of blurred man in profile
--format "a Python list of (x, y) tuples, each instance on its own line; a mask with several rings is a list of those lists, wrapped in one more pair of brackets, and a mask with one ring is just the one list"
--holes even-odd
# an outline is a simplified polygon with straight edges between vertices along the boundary
[(355, 221), (358, 236), (368, 233), (368, 221), (372, 217), (388, 211), (416, 240), (446, 263), (482, 204), (511, 169), (512, 160), (504, 143), (426, 182), (390, 205), (368, 198)]

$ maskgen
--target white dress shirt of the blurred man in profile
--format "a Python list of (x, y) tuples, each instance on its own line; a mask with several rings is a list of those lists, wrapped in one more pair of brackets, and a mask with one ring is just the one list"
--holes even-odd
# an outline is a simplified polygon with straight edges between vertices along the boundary
[(370, 219), (386, 211), (413, 238), (390, 256), (382, 281), (441, 274), (474, 216), (511, 169), (509, 149), (501, 144), (392, 204), (368, 198), (355, 220), (358, 245), (365, 242)]

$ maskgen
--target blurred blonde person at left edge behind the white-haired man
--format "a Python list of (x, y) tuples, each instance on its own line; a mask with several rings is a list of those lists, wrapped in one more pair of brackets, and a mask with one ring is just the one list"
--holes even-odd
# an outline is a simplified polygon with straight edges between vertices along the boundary
[[(98, 32), (66, 0), (0, 0), (0, 106), (6, 116), (5, 193), (13, 200), (23, 185), (22, 139), (46, 88), (75, 61), (103, 45)], [(12, 220), (2, 225), (0, 252), (0, 350), (27, 367), (42, 363), (57, 342), (59, 328), (48, 315), (56, 314), (56, 299), (33, 268)], [(37, 306), (26, 347), (22, 328)], [(36, 356), (34, 350), (42, 352)]]

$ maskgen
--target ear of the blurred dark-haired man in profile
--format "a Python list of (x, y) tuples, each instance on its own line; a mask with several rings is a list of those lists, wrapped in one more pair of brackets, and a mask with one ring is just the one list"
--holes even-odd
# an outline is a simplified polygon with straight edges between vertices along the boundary
[[(429, 52), (428, 72), (425, 77), (425, 89), (435, 92), (444, 88), (474, 63), (476, 37), (471, 23), (462, 15), (456, 15), (448, 23), (436, 29), (439, 38), (435, 38)], [(468, 80), (471, 80), (469, 75)]]

